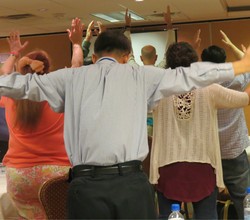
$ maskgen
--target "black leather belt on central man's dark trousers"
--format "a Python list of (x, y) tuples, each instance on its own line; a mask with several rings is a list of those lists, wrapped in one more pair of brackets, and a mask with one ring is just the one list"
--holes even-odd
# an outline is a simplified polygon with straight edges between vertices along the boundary
[(70, 177), (74, 179), (81, 176), (96, 176), (96, 175), (123, 175), (131, 172), (142, 171), (142, 162), (133, 160), (125, 163), (118, 163), (111, 166), (92, 166), (92, 165), (77, 165), (70, 170)]

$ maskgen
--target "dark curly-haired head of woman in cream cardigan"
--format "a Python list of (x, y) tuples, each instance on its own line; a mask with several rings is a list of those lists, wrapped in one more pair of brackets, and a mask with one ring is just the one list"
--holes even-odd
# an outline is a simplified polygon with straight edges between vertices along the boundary
[(166, 52), (167, 67), (172, 69), (184, 66), (188, 67), (191, 63), (198, 61), (198, 55), (194, 48), (187, 42), (173, 43)]

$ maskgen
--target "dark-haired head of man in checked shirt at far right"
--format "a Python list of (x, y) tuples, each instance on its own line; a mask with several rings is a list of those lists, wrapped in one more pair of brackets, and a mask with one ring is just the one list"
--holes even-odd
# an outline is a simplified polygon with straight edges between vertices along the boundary
[(201, 53), (202, 61), (209, 61), (213, 63), (225, 63), (226, 58), (227, 56), (225, 50), (216, 45), (212, 45), (204, 49)]

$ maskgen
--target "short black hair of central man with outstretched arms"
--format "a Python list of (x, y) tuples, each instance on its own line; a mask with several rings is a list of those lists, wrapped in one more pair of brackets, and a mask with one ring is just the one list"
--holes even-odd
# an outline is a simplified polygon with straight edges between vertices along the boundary
[(129, 39), (120, 30), (107, 30), (102, 32), (96, 39), (94, 53), (131, 52)]

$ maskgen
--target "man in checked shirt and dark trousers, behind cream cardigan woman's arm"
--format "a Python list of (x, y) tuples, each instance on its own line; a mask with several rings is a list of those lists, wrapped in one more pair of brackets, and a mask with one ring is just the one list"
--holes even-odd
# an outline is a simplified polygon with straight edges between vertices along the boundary
[[(203, 61), (224, 63), (223, 48), (210, 46), (202, 52)], [(244, 91), (250, 83), (250, 73), (222, 83), (226, 88)], [(250, 146), (243, 108), (218, 110), (218, 126), (223, 168), (223, 179), (239, 219), (244, 218), (243, 200), (249, 186), (250, 168), (246, 148)]]

